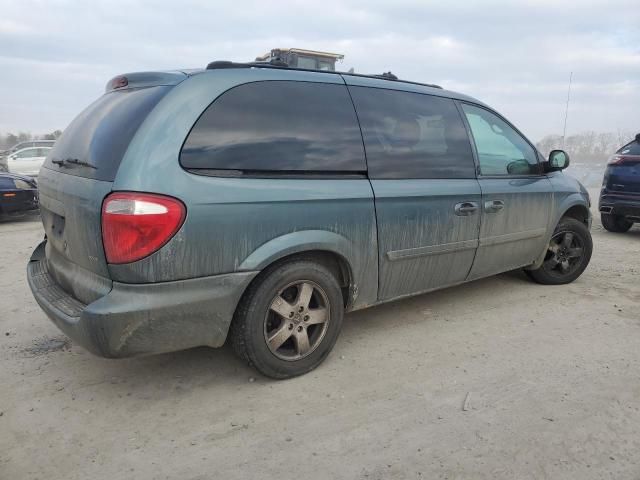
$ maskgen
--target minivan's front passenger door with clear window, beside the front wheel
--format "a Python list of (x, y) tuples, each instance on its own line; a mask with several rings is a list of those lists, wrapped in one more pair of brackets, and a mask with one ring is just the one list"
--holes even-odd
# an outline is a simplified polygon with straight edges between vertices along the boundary
[(480, 244), (469, 279), (533, 263), (544, 249), (553, 203), (533, 146), (494, 112), (462, 103), (482, 190)]

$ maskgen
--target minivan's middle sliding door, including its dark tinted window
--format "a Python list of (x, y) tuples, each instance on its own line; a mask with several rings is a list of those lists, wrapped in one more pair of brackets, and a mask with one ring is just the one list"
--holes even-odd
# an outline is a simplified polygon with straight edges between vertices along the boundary
[(464, 281), (478, 245), (480, 187), (455, 103), (382, 88), (349, 90), (375, 195), (378, 298)]

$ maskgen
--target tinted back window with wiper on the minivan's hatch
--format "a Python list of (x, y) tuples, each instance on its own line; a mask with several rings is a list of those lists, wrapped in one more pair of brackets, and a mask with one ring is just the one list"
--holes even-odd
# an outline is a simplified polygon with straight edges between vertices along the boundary
[[(45, 167), (113, 181), (131, 139), (170, 89), (160, 86), (106, 93), (71, 122), (55, 143)], [(64, 165), (52, 163), (60, 160)]]

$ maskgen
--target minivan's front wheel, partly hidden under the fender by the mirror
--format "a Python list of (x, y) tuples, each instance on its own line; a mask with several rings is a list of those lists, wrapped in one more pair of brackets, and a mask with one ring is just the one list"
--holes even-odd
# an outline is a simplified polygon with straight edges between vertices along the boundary
[(525, 272), (543, 285), (571, 283), (587, 268), (592, 252), (593, 242), (586, 225), (575, 218), (565, 217), (551, 236), (542, 265)]

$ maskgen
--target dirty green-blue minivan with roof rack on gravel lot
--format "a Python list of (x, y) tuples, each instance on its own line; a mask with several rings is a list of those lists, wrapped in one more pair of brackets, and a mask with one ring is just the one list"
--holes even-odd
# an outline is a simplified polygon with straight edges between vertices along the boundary
[(127, 74), (43, 165), (29, 285), (97, 355), (228, 341), (300, 375), (345, 312), (519, 268), (579, 277), (590, 200), (568, 163), (478, 100), (390, 74)]

